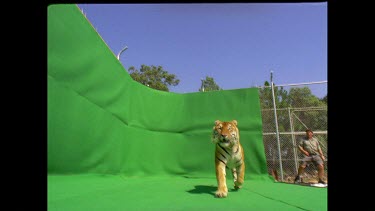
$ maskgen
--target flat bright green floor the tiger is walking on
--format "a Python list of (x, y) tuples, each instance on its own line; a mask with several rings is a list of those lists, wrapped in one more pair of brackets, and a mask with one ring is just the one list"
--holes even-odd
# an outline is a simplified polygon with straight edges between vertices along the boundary
[(327, 210), (327, 188), (246, 180), (215, 198), (216, 179), (188, 176), (48, 177), (48, 210)]

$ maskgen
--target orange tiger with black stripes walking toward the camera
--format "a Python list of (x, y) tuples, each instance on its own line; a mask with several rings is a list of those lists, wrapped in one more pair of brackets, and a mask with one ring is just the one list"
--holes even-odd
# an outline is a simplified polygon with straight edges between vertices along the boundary
[(225, 198), (228, 195), (226, 168), (232, 171), (236, 190), (242, 187), (245, 177), (245, 156), (240, 144), (237, 120), (228, 122), (216, 120), (212, 132), (212, 142), (216, 145), (215, 170), (218, 187), (215, 197)]

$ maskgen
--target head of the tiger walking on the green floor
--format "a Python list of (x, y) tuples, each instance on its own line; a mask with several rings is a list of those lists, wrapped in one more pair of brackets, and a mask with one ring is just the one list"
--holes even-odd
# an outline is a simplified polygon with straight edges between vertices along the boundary
[(212, 142), (223, 147), (230, 147), (239, 143), (239, 131), (237, 121), (222, 122), (215, 121), (212, 131)]

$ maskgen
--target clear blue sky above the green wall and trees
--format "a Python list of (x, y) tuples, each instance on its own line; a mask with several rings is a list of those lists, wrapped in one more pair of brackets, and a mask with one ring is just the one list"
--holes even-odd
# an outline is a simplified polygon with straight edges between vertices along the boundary
[[(213, 77), (223, 89), (328, 80), (327, 2), (78, 4), (128, 69), (162, 66), (197, 92)], [(312, 90), (314, 93), (314, 90)], [(323, 97), (327, 89), (314, 93)]]

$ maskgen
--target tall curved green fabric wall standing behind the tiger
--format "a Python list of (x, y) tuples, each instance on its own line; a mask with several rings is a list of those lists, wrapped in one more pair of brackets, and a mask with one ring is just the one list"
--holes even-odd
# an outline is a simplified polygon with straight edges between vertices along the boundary
[(256, 88), (143, 86), (73, 4), (48, 7), (47, 47), (49, 174), (215, 176), (214, 121), (236, 119), (246, 178), (268, 177)]

